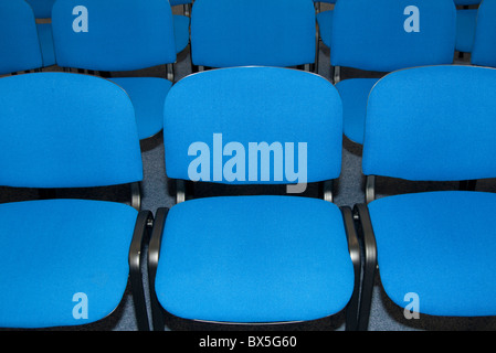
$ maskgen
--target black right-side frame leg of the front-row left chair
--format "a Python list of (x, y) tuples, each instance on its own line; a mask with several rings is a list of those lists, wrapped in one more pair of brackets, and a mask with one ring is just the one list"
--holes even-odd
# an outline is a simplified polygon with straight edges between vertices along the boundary
[(138, 213), (133, 240), (129, 247), (129, 280), (139, 331), (150, 330), (143, 284), (141, 256), (144, 254), (145, 245), (149, 242), (152, 223), (154, 214), (150, 211), (140, 211)]

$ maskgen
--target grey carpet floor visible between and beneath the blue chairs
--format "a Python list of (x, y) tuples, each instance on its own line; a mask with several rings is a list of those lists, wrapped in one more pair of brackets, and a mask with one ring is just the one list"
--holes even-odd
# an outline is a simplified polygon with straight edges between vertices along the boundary
[[(466, 63), (466, 62), (465, 62)], [(53, 69), (57, 69), (53, 67)], [(191, 73), (189, 52), (181, 53), (176, 64), (176, 81)], [(329, 49), (320, 46), (319, 52), (319, 72), (321, 76), (330, 78)], [(351, 77), (380, 77), (382, 74), (367, 73), (355, 69), (342, 69), (342, 78)], [(133, 73), (115, 73), (113, 76), (156, 76), (165, 77), (165, 66), (151, 67)], [(143, 161), (144, 161), (144, 181), (143, 188), (143, 208), (150, 210), (154, 213), (158, 207), (171, 207), (175, 203), (173, 196), (169, 194), (169, 180), (165, 175), (163, 145), (161, 133), (143, 141)], [(335, 183), (335, 203), (339, 206), (353, 206), (357, 203), (365, 202), (365, 179), (361, 174), (361, 147), (345, 139), (342, 151), (342, 172), (339, 180)], [(401, 180), (381, 180), (377, 181), (378, 197), (401, 193), (414, 192), (421, 190), (450, 190), (456, 189), (456, 183), (409, 183)], [(477, 190), (489, 192), (496, 191), (496, 180), (479, 181)], [(209, 195), (211, 189), (197, 188), (199, 195)], [(309, 193), (313, 191), (308, 190)], [(102, 191), (106, 196), (108, 191)], [(1, 201), (11, 201), (19, 197), (19, 190), (8, 190), (2, 188), (0, 193)], [(127, 196), (127, 190), (115, 189), (110, 192), (112, 196)], [(490, 300), (490, 299), (489, 299)], [(224, 331), (224, 330), (288, 330), (288, 331), (340, 331), (345, 329), (345, 315), (338, 313), (333, 318), (326, 318), (307, 323), (293, 323), (288, 325), (263, 325), (263, 327), (239, 327), (239, 325), (217, 325), (199, 322), (186, 322), (183, 320), (168, 315), (166, 318), (167, 330), (171, 331)], [(55, 328), (53, 330), (77, 330), (77, 331), (135, 331), (137, 330), (133, 300), (129, 290), (123, 298), (122, 304), (106, 319), (85, 327), (76, 328)], [(372, 309), (369, 323), (370, 331), (444, 331), (444, 330), (496, 330), (496, 318), (444, 318), (420, 315), (420, 319), (408, 320), (403, 315), (403, 309), (392, 303), (384, 295), (380, 280), (378, 279), (373, 290)]]

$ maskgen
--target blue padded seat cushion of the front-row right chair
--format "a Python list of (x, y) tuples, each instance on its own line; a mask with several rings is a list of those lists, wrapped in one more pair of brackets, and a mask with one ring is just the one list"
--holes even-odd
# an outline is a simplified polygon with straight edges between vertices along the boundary
[(496, 314), (496, 194), (443, 191), (369, 204), (383, 288), (399, 306), (419, 295), (420, 312)]

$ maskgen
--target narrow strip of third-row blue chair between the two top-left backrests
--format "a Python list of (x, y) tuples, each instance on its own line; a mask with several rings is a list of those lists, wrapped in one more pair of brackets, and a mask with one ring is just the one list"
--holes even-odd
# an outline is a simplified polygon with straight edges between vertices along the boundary
[(55, 50), (53, 47), (52, 23), (48, 22), (52, 18), (52, 7), (55, 0), (25, 0), (33, 9), (36, 19), (45, 22), (36, 23), (38, 35), (40, 38), (41, 52), (43, 54), (43, 67), (56, 64)]

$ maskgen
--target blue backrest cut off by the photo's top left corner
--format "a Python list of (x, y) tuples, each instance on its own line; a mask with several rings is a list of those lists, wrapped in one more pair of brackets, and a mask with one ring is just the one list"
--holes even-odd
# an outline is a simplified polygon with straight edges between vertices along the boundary
[(43, 66), (34, 14), (23, 0), (0, 2), (0, 75)]

